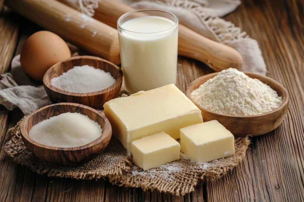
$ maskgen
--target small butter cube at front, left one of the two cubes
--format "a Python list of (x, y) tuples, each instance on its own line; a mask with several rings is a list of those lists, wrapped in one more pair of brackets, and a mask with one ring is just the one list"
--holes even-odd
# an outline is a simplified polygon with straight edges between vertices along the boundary
[(178, 160), (181, 146), (170, 135), (160, 132), (134, 140), (131, 150), (133, 162), (143, 170), (148, 170)]

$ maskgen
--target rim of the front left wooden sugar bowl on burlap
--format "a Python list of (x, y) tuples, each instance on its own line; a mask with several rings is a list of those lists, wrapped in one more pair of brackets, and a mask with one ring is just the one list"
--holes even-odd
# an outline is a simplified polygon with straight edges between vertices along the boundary
[[(85, 144), (85, 145), (82, 145), (82, 146), (78, 146), (78, 147), (53, 147), (53, 146), (48, 146), (48, 145), (41, 144), (39, 142), (34, 141), (32, 138), (29, 137), (29, 131), (25, 130), (25, 122), (30, 117), (32, 117), (34, 114), (36, 114), (38, 111), (44, 110), (46, 108), (50, 108), (51, 106), (54, 106), (54, 105), (70, 105), (70, 106), (76, 106), (76, 107), (86, 108), (88, 110), (91, 110), (92, 112), (94, 112), (95, 114), (97, 114), (98, 116), (100, 116), (105, 121), (105, 130), (102, 130), (101, 136), (98, 137), (96, 140), (93, 140), (92, 142), (89, 142), (88, 144)], [(63, 112), (63, 113), (67, 113), (67, 112)], [(61, 114), (63, 114), (63, 113), (61, 113)], [(49, 118), (47, 118), (47, 119), (49, 119)], [(44, 120), (47, 120), (47, 119), (44, 119)], [(102, 127), (101, 125), (99, 125), (99, 126)], [(58, 151), (58, 150), (60, 150), (60, 151), (80, 151), (80, 150), (84, 150), (86, 148), (89, 148), (89, 147), (92, 147), (92, 146), (94, 146), (96, 144), (101, 143), (104, 139), (108, 138), (109, 135), (112, 136), (112, 132), (111, 131), (112, 131), (112, 128), (111, 128), (111, 125), (109, 123), (109, 120), (101, 112), (99, 112), (99, 111), (97, 111), (97, 110), (95, 110), (95, 109), (93, 109), (91, 107), (88, 107), (86, 105), (83, 105), (83, 104), (70, 103), (70, 102), (61, 102), (61, 103), (50, 104), (50, 105), (47, 105), (45, 107), (42, 107), (42, 108), (34, 111), (33, 113), (29, 114), (28, 116), (26, 116), (26, 118), (22, 121), (22, 123), (20, 125), (21, 136), (23, 138), (25, 138), (27, 141), (29, 141), (30, 144), (33, 144), (35, 147), (46, 148), (46, 149), (54, 150), (54, 151)]]

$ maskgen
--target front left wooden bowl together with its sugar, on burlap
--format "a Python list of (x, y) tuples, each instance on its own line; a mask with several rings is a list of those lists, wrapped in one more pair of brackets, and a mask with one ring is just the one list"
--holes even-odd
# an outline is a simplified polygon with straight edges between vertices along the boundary
[[(68, 118), (59, 118), (64, 114), (69, 114)], [(40, 127), (39, 124), (44, 125)], [(97, 131), (91, 131), (94, 127)], [(20, 131), (25, 146), (37, 158), (67, 167), (78, 166), (97, 157), (108, 146), (112, 136), (111, 125), (102, 113), (76, 103), (51, 104), (34, 111), (22, 121)], [(97, 135), (83, 140), (92, 133)], [(86, 143), (83, 145), (83, 142)]]

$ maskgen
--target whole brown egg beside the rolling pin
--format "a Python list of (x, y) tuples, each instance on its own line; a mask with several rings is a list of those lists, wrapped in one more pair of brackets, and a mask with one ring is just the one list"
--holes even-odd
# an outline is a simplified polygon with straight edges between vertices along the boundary
[(50, 31), (38, 31), (24, 43), (20, 53), (21, 67), (30, 78), (43, 80), (43, 75), (57, 62), (71, 58), (65, 41)]

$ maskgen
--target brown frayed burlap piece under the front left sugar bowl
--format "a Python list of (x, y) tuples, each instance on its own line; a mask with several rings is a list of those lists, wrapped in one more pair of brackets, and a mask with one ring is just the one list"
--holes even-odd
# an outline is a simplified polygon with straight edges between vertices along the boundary
[[(23, 117), (15, 127), (12, 127), (7, 131), (4, 150), (6, 154), (13, 158), (17, 163), (29, 167), (38, 174), (47, 174), (48, 177), (92, 180), (107, 177), (109, 174), (121, 175), (124, 171), (130, 170), (131, 162), (126, 158), (127, 151), (115, 138), (111, 139), (106, 148), (106, 152), (78, 167), (54, 166), (41, 161), (27, 150), (22, 141), (20, 125), (24, 118), (25, 117)], [(111, 165), (102, 164), (104, 161), (110, 161), (109, 159), (112, 158), (115, 161), (113, 160)]]

